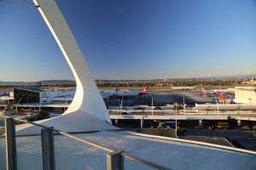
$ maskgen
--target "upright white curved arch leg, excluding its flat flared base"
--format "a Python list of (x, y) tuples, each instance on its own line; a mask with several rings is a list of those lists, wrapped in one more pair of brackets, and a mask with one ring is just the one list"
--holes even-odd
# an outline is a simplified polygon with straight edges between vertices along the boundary
[(84, 56), (55, 1), (34, 0), (34, 3), (55, 37), (55, 41), (61, 48), (62, 54), (67, 59), (67, 63), (73, 71), (77, 82), (77, 90), (73, 102), (64, 114), (84, 111), (87, 114), (111, 123), (106, 105), (96, 87), (96, 82), (91, 77)]

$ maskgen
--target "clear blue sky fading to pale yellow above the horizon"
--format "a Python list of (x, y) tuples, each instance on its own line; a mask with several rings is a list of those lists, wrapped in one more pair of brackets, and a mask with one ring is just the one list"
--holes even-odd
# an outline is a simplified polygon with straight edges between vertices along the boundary
[[(73, 79), (38, 10), (17, 2), (0, 1), (0, 81)], [(253, 0), (56, 2), (96, 79), (256, 73)]]

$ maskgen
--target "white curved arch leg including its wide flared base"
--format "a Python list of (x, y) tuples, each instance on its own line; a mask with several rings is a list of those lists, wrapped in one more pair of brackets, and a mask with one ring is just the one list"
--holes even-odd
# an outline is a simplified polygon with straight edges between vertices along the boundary
[[(34, 3), (67, 59), (77, 83), (76, 94), (67, 111), (62, 116), (39, 123), (66, 132), (116, 129), (117, 127), (111, 125), (106, 105), (96, 87), (96, 82), (91, 77), (84, 56), (55, 1), (34, 0)], [(27, 124), (18, 127), (17, 130), (19, 133), (36, 133), (35, 127)]]

